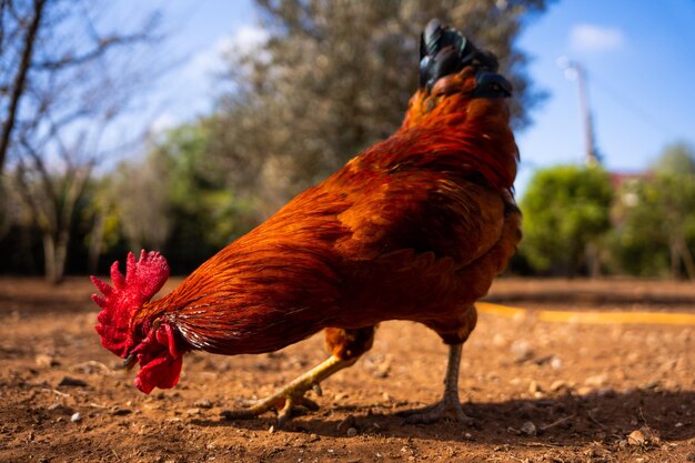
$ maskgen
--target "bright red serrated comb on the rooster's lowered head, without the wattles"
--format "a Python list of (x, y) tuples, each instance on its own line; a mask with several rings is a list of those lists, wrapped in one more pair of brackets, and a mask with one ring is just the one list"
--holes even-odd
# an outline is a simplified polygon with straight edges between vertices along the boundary
[(120, 358), (125, 358), (133, 345), (130, 322), (142, 304), (148, 302), (162, 288), (169, 278), (169, 264), (159, 252), (140, 253), (135, 261), (132, 252), (125, 261), (125, 275), (119, 270), (119, 263), (111, 265), (111, 281), (91, 276), (92, 283), (101, 292), (92, 294), (92, 300), (102, 310), (97, 316), (95, 326), (101, 336), (101, 344)]

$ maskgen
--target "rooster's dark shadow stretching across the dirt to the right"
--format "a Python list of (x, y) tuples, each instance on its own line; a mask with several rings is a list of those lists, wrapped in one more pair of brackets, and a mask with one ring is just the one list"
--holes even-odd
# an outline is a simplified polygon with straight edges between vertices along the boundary
[[(349, 439), (354, 433), (386, 437), (435, 441), (471, 441), (507, 445), (528, 441), (540, 445), (617, 443), (632, 431), (647, 427), (662, 442), (695, 437), (695, 391), (634, 390), (598, 391), (586, 395), (565, 394), (547, 399), (463, 404), (472, 423), (440, 421), (407, 424), (397, 409), (370, 404), (339, 405), (294, 417), (282, 431), (306, 434), (308, 439)], [(275, 425), (271, 413), (251, 420), (197, 420), (200, 426), (236, 427), (268, 432)], [(533, 423), (531, 426), (527, 423)]]

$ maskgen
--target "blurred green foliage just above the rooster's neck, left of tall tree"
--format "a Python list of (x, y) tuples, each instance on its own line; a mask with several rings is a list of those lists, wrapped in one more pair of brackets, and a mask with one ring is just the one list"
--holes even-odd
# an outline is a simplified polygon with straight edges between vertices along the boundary
[[(161, 191), (162, 203), (149, 212), (160, 220), (143, 220), (147, 228), (167, 229), (158, 249), (164, 249), (174, 272), (189, 272), (232, 240), (256, 224), (254, 203), (238, 198), (226, 188), (225, 177), (209, 160), (210, 130), (207, 121), (184, 124), (169, 131), (154, 143), (144, 163), (144, 171), (154, 190)], [(154, 200), (135, 194), (142, 204)]]

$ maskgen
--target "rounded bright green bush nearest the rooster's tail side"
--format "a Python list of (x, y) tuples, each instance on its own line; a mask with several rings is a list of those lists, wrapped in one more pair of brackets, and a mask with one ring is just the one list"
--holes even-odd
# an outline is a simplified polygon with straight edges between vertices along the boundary
[(537, 271), (577, 274), (600, 263), (602, 236), (611, 228), (613, 188), (598, 167), (538, 170), (521, 201), (524, 239), (520, 253)]

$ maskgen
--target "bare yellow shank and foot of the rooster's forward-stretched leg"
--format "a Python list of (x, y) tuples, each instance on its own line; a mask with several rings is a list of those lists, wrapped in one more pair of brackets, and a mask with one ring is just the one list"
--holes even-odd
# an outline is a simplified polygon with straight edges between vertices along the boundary
[(333, 373), (351, 366), (357, 359), (342, 360), (331, 355), (306, 373), (289, 382), (268, 397), (256, 402), (248, 409), (222, 412), (228, 420), (248, 420), (259, 416), (271, 409), (278, 412), (278, 427), (282, 427), (291, 417), (296, 406), (310, 410), (319, 409), (319, 405), (304, 396), (310, 389), (321, 395), (321, 382)]

